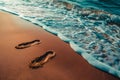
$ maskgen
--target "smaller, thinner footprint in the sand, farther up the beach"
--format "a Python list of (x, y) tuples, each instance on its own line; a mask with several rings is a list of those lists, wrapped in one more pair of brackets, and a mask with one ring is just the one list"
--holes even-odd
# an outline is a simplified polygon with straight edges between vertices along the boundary
[(16, 49), (24, 49), (24, 48), (28, 48), (28, 47), (38, 45), (38, 44), (40, 44), (40, 40), (33, 40), (30, 42), (24, 42), (24, 43), (18, 44), (17, 46), (15, 46), (15, 48)]

